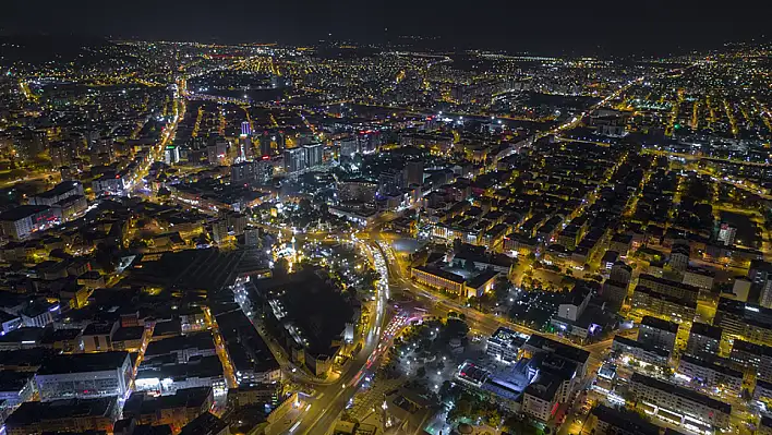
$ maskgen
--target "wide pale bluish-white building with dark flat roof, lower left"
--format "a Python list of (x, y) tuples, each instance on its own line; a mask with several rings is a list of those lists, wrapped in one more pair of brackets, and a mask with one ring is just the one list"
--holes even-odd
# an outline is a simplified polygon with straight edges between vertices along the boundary
[(129, 352), (60, 354), (44, 360), (35, 383), (43, 401), (123, 397), (132, 373)]

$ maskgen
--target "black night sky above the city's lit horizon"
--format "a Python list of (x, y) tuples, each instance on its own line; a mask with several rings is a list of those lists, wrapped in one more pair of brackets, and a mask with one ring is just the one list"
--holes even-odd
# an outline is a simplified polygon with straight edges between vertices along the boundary
[(772, 0), (69, 1), (3, 0), (3, 34), (221, 43), (361, 43), (420, 35), (444, 48), (666, 56), (770, 40)]

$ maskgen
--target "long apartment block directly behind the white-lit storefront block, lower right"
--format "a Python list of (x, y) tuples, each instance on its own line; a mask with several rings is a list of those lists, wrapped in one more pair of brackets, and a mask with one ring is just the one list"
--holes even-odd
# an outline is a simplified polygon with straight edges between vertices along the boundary
[(677, 373), (692, 385), (713, 392), (738, 397), (743, 390), (743, 372), (700, 358), (681, 355)]

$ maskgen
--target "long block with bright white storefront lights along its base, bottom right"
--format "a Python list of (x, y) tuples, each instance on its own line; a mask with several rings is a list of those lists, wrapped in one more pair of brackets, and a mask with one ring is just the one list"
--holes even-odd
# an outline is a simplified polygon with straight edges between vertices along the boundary
[(629, 388), (647, 411), (674, 424), (699, 433), (729, 425), (732, 406), (695, 390), (640, 373), (632, 374)]

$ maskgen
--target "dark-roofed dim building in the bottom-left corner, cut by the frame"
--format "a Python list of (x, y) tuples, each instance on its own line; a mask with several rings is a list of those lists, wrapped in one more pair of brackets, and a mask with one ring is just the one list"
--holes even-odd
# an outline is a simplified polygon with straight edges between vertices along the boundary
[(121, 408), (117, 398), (68, 399), (49, 402), (22, 403), (5, 420), (8, 435), (43, 433), (112, 433)]

